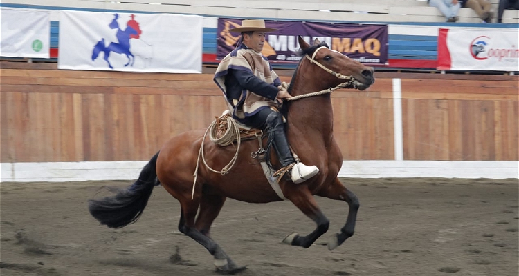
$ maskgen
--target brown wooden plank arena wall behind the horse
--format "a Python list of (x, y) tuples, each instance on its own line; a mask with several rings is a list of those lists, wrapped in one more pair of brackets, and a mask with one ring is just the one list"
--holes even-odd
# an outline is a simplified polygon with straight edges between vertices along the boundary
[[(169, 137), (207, 128), (225, 108), (214, 68), (179, 75), (0, 67), (2, 163), (147, 160)], [(292, 71), (278, 74), (289, 82)], [(344, 159), (394, 159), (392, 79), (399, 78), (404, 159), (519, 160), (519, 77), (375, 76), (367, 92), (332, 95)]]

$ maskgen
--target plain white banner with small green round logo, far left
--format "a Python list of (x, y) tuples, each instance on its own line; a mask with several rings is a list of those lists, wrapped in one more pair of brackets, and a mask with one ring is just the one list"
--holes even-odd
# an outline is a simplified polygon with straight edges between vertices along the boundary
[(0, 8), (0, 21), (2, 57), (51, 57), (51, 21), (48, 12)]

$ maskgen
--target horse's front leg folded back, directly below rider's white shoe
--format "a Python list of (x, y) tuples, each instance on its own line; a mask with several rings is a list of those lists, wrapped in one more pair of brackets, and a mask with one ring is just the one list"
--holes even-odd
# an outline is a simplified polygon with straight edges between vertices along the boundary
[(297, 206), (299, 210), (304, 213), (304, 215), (307, 215), (307, 217), (315, 221), (317, 228), (316, 230), (313, 230), (312, 233), (304, 237), (300, 236), (298, 233), (292, 233), (286, 236), (283, 239), (283, 242), (293, 246), (309, 248), (313, 242), (316, 242), (316, 240), (322, 236), (322, 234), (326, 233), (329, 226), (329, 220), (317, 206), (316, 199), (313, 198), (313, 195), (310, 193), (307, 186), (299, 186), (296, 189), (297, 190), (295, 191), (291, 190), (289, 193), (286, 193), (285, 197), (290, 199), (290, 201), (292, 201), (292, 203)]

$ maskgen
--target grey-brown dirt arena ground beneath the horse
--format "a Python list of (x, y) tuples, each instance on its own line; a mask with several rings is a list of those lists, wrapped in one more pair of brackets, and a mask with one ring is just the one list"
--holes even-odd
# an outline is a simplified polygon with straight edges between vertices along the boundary
[[(342, 179), (361, 201), (355, 235), (334, 251), (347, 204), (318, 197), (329, 232), (308, 249), (282, 239), (314, 229), (290, 202), (228, 199), (212, 237), (240, 275), (518, 275), (518, 179)], [(179, 203), (155, 188), (143, 216), (113, 230), (87, 210), (100, 186), (131, 181), (0, 184), (0, 274), (217, 275), (177, 230)]]

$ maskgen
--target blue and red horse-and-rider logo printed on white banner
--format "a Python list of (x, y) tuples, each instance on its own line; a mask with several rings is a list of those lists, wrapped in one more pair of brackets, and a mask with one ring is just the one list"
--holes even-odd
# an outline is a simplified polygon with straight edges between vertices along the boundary
[(119, 14), (115, 14), (113, 20), (108, 26), (111, 29), (117, 29), (116, 37), (119, 43), (111, 42), (108, 46), (105, 46), (104, 38), (102, 38), (95, 44), (95, 46), (93, 46), (92, 52), (92, 61), (95, 61), (95, 59), (98, 58), (100, 52), (104, 52), (104, 60), (107, 61), (108, 66), (111, 69), (113, 69), (113, 66), (111, 66), (111, 63), (108, 60), (111, 52), (126, 55), (128, 62), (125, 64), (125, 67), (129, 65), (134, 66), (135, 57), (134, 54), (130, 52), (129, 40), (132, 38), (138, 39), (141, 33), (137, 21), (134, 20), (134, 14), (131, 14), (131, 21), (128, 21), (125, 30), (119, 28), (119, 23), (117, 22), (118, 18)]

